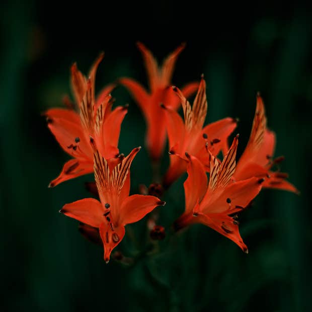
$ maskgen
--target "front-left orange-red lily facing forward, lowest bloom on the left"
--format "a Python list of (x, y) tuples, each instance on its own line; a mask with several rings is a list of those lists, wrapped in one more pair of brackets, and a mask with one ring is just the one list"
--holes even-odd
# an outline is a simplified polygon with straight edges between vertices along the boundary
[(155, 207), (165, 205), (165, 202), (154, 196), (129, 196), (129, 169), (139, 149), (140, 147), (134, 148), (116, 166), (111, 166), (95, 150), (94, 172), (101, 202), (94, 198), (85, 198), (66, 204), (60, 210), (69, 217), (99, 229), (106, 263), (112, 250), (123, 239), (126, 224), (134, 223)]

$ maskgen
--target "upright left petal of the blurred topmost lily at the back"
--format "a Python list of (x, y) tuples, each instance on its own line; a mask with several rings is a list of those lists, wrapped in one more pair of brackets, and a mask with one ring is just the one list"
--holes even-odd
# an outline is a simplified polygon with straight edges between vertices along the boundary
[(157, 61), (152, 53), (141, 42), (137, 42), (137, 47), (142, 53), (144, 59), (150, 90), (154, 91), (158, 88), (160, 83), (160, 72)]

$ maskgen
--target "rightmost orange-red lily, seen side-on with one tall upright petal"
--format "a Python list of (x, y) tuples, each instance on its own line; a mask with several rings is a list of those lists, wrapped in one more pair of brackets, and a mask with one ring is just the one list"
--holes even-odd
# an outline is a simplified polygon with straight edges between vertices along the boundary
[(233, 178), (236, 181), (250, 177), (266, 178), (263, 187), (282, 189), (298, 193), (298, 190), (286, 178), (288, 175), (272, 171), (284, 158), (273, 159), (275, 133), (267, 129), (267, 119), (262, 98), (257, 95), (257, 107), (248, 144), (243, 152)]

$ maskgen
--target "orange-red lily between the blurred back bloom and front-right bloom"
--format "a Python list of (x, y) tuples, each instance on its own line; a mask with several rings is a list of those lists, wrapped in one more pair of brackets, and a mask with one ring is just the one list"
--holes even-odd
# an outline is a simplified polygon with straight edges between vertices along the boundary
[(228, 117), (203, 128), (207, 115), (206, 83), (203, 77), (193, 107), (177, 87), (173, 87), (173, 91), (181, 101), (184, 122), (176, 111), (163, 105), (166, 113), (169, 153), (174, 155), (170, 158), (170, 167), (163, 180), (165, 187), (171, 185), (186, 172), (188, 161), (185, 157), (186, 152), (199, 159), (209, 171), (206, 149), (208, 148), (214, 155), (222, 150), (224, 155), (228, 150), (227, 138), (237, 126), (237, 120)]

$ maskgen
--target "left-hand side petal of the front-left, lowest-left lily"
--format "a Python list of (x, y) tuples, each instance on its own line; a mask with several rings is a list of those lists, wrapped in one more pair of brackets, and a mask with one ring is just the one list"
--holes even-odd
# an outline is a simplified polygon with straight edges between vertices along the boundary
[(94, 198), (84, 198), (66, 204), (60, 212), (93, 227), (99, 227), (105, 219), (102, 204)]

